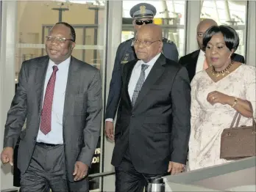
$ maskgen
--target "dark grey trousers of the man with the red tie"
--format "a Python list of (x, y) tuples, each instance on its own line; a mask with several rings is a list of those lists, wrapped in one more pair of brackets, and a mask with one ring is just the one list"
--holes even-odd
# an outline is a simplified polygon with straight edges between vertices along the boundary
[(21, 174), (21, 192), (49, 192), (50, 188), (53, 192), (87, 192), (88, 178), (68, 181), (63, 145), (36, 144), (29, 168)]

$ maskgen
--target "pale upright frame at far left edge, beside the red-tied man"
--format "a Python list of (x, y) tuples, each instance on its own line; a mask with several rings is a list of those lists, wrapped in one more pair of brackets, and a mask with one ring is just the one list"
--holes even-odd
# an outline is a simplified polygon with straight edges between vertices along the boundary
[[(4, 125), (7, 111), (15, 92), (15, 29), (17, 1), (2, 2), (1, 56), (0, 56), (0, 150), (3, 148)], [(1, 165), (0, 188), (13, 188), (10, 164)]]

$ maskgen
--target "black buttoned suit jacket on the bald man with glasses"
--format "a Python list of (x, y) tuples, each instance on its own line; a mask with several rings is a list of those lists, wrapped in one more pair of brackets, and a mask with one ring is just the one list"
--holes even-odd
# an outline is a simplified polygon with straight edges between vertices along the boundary
[(162, 54), (132, 108), (128, 84), (136, 62), (124, 65), (112, 164), (119, 166), (129, 147), (137, 171), (163, 174), (167, 172), (169, 161), (186, 163), (191, 130), (188, 73), (185, 67)]

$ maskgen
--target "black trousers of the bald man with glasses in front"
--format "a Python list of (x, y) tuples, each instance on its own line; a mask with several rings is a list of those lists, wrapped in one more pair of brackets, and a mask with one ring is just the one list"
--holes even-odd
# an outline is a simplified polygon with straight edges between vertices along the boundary
[[(166, 167), (166, 172), (167, 169)], [(115, 192), (143, 192), (143, 189), (147, 187), (149, 178), (162, 177), (163, 175), (143, 174), (136, 171), (129, 155), (129, 149), (127, 149), (120, 166), (115, 167)]]

